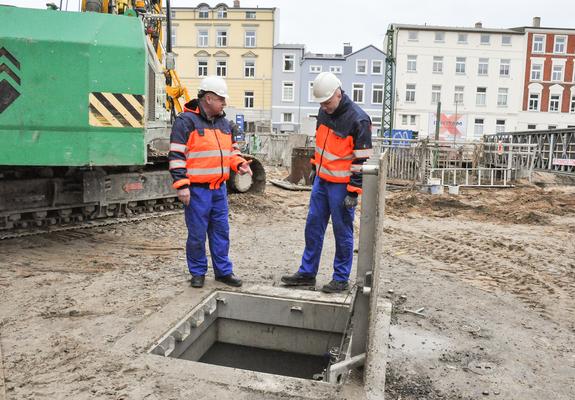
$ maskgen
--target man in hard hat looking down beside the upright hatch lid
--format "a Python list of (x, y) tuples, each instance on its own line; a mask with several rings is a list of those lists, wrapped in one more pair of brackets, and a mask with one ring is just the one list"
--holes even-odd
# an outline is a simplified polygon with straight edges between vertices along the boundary
[(341, 89), (331, 72), (313, 82), (313, 96), (320, 103), (317, 117), (313, 179), (305, 226), (305, 250), (294, 275), (281, 278), (286, 286), (315, 286), (325, 229), (331, 216), (335, 235), (335, 260), (326, 293), (349, 289), (353, 261), (353, 218), (361, 194), (361, 165), (372, 154), (371, 120)]

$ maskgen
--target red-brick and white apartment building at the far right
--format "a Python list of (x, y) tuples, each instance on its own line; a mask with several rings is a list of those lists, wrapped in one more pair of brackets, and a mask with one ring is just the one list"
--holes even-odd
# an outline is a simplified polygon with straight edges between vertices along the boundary
[(519, 130), (575, 127), (575, 29), (533, 25), (526, 37)]

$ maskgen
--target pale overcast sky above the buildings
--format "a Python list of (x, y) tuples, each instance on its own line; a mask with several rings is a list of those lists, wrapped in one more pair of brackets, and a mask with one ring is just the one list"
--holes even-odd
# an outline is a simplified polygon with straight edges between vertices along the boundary
[[(0, 0), (0, 4), (45, 8), (60, 0)], [(80, 0), (62, 0), (62, 8), (78, 10)], [(232, 0), (171, 0), (172, 6), (210, 6)], [(165, 3), (165, 1), (164, 1)], [(242, 7), (280, 9), (281, 43), (302, 43), (315, 53), (341, 53), (344, 42), (354, 50), (369, 44), (379, 48), (392, 23), (471, 27), (481, 21), (486, 28), (531, 25), (534, 16), (541, 26), (575, 28), (574, 0), (240, 0)]]

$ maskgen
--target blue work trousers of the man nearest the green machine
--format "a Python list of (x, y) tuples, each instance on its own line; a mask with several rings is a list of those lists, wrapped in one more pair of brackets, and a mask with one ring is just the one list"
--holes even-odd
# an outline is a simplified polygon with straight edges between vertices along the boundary
[(206, 234), (216, 277), (232, 273), (230, 226), (228, 223), (228, 198), (226, 185), (211, 190), (190, 186), (190, 204), (185, 208), (188, 240), (186, 259), (192, 275), (205, 275), (208, 270)]

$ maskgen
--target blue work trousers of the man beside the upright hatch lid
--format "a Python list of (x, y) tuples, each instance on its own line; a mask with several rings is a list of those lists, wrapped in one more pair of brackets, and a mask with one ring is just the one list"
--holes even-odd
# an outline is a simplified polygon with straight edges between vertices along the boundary
[(346, 183), (332, 183), (319, 177), (315, 178), (305, 225), (305, 250), (299, 268), (300, 274), (316, 276), (325, 229), (331, 216), (335, 236), (333, 279), (336, 281), (349, 280), (353, 262), (355, 208), (348, 209), (343, 205), (346, 195)]

